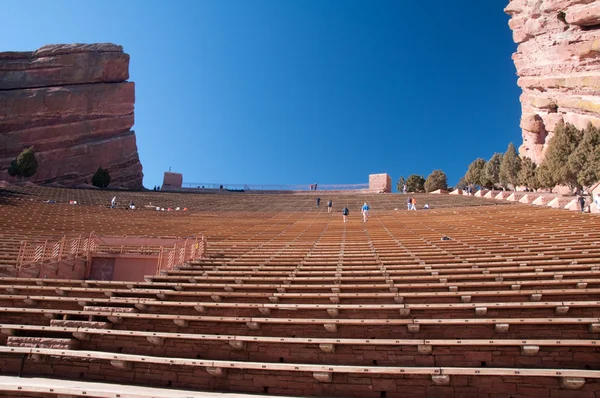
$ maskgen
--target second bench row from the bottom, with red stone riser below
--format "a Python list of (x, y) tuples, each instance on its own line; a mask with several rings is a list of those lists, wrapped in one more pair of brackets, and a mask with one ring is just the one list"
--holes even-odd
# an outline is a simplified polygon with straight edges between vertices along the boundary
[[(133, 382), (138, 373), (146, 372), (145, 380), (152, 383), (150, 373), (155, 378), (163, 378), (165, 374), (168, 377), (177, 379), (178, 387), (196, 387), (196, 388), (215, 388), (218, 384), (221, 389), (231, 388), (231, 383), (240, 389), (250, 391), (271, 392), (264, 390), (264, 384), (273, 382), (272, 376), (264, 371), (265, 368), (274, 368), (272, 364), (260, 362), (244, 361), (212, 361), (204, 359), (185, 359), (185, 358), (162, 358), (153, 356), (140, 356), (129, 354), (102, 353), (93, 351), (71, 351), (65, 352), (55, 349), (38, 348), (17, 348), (0, 347), (0, 352), (9, 352), (10, 354), (34, 355), (39, 360), (50, 358), (49, 363), (54, 364), (60, 361), (59, 358), (68, 358), (73, 364), (82, 364), (90, 360), (100, 371), (104, 373), (114, 373), (114, 378), (121, 381)], [(18, 360), (15, 358), (15, 360)], [(10, 359), (6, 360), (6, 362)], [(14, 360), (13, 360), (14, 361)], [(286, 379), (291, 383), (287, 390), (308, 391), (309, 394), (316, 395), (338, 395), (343, 394), (348, 397), (374, 396), (372, 386), (376, 385), (380, 391), (391, 391), (393, 397), (399, 396), (417, 396), (413, 393), (424, 394), (443, 394), (444, 396), (453, 394), (458, 387), (448, 386), (451, 380), (459, 385), (469, 385), (469, 378), (479, 379), (481, 377), (491, 376), (497, 385), (513, 384), (516, 389), (517, 383), (520, 387), (525, 386), (526, 390), (537, 390), (549, 395), (552, 389), (560, 385), (578, 386), (579, 396), (591, 397), (594, 394), (594, 388), (598, 387), (597, 379), (600, 373), (597, 371), (571, 371), (567, 369), (511, 369), (511, 368), (468, 368), (468, 367), (353, 367), (337, 365), (303, 365), (286, 364), (277, 365), (279, 378)], [(123, 369), (127, 371), (123, 372)], [(191, 371), (189, 370), (191, 369)], [(25, 369), (28, 370), (28, 369)], [(187, 372), (186, 372), (187, 370)], [(202, 371), (201, 371), (202, 370)], [(360, 377), (358, 375), (361, 375)], [(182, 377), (183, 376), (183, 377)], [(415, 377), (416, 376), (416, 377)], [(93, 376), (92, 376), (93, 377)], [(353, 383), (356, 378), (371, 380), (370, 383)], [(589, 381), (585, 382), (585, 378)], [(537, 379), (537, 380), (531, 380)], [(244, 380), (246, 380), (244, 382)], [(584, 382), (581, 382), (584, 380)], [(415, 383), (417, 381), (417, 383)], [(424, 383), (426, 381), (426, 383)], [(489, 381), (488, 381), (489, 383)], [(535, 383), (535, 384), (533, 384)], [(403, 391), (407, 386), (415, 385), (415, 389), (409, 393)], [(426, 387), (429, 384), (428, 387)], [(491, 383), (490, 383), (491, 384)], [(172, 384), (171, 384), (172, 385)], [(477, 391), (479, 385), (477, 382), (471, 384)], [(485, 386), (486, 384), (481, 384)], [(442, 386), (438, 388), (438, 386)], [(219, 388), (217, 387), (217, 388)], [(488, 388), (490, 386), (488, 385)], [(383, 390), (385, 389), (385, 390)], [(465, 388), (467, 390), (468, 388)], [(275, 390), (275, 389), (273, 389)], [(279, 388), (276, 390), (280, 390)], [(515, 390), (515, 392), (518, 390)], [(522, 390), (523, 391), (523, 390)], [(273, 391), (276, 393), (276, 391)], [(402, 394), (402, 395), (400, 395)], [(387, 395), (387, 394), (386, 394)], [(557, 396), (560, 396), (557, 395)], [(566, 395), (563, 395), (566, 396)]]

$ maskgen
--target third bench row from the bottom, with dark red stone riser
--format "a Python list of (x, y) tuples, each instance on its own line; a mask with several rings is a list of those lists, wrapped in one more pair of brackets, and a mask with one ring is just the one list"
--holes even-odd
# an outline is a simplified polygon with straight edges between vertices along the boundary
[[(57, 322), (65, 323), (65, 322)], [(76, 322), (72, 321), (71, 324)], [(80, 339), (82, 350), (253, 362), (371, 366), (597, 367), (599, 340), (585, 339), (350, 339), (149, 332), (86, 327), (0, 325), (10, 344), (21, 333)], [(12, 337), (16, 336), (16, 337)], [(37, 340), (39, 341), (39, 340)], [(198, 348), (201, 347), (199, 350)], [(576, 352), (564, 347), (577, 347)], [(560, 355), (556, 355), (561, 351)], [(282, 357), (284, 355), (284, 357)]]

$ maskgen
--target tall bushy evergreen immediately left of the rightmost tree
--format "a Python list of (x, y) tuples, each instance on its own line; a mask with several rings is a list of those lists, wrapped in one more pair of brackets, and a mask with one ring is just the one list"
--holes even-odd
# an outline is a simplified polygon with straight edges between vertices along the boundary
[(539, 167), (540, 183), (544, 188), (554, 188), (559, 184), (568, 185), (571, 189), (581, 188), (577, 182), (578, 170), (569, 165), (569, 156), (575, 152), (582, 135), (581, 130), (570, 123), (556, 126)]

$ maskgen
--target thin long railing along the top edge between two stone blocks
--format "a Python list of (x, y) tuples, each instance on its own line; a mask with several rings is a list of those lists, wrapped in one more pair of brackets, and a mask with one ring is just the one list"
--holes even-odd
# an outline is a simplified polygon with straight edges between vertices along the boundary
[[(214, 184), (184, 182), (183, 188), (229, 191), (311, 191), (311, 184)], [(165, 190), (168, 187), (164, 188)], [(317, 184), (317, 191), (357, 191), (369, 189), (369, 184)]]

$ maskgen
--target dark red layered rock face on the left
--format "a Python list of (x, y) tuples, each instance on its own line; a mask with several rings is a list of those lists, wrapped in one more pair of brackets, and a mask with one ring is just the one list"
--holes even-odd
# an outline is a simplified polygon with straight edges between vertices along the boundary
[(0, 53), (0, 180), (33, 146), (39, 167), (30, 181), (91, 183), (103, 167), (111, 186), (141, 188), (128, 78), (129, 55), (114, 44)]

